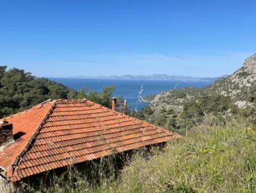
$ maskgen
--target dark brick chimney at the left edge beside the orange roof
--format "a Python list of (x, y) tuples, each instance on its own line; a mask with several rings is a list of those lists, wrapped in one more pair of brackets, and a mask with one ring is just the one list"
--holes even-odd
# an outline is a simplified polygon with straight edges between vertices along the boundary
[(0, 120), (0, 146), (13, 140), (13, 124)]

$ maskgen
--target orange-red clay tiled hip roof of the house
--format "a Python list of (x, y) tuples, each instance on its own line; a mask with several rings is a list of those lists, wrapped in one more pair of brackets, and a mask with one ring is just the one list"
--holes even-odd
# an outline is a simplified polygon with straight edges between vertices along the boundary
[(179, 137), (89, 100), (54, 100), (6, 120), (26, 133), (0, 152), (12, 181)]

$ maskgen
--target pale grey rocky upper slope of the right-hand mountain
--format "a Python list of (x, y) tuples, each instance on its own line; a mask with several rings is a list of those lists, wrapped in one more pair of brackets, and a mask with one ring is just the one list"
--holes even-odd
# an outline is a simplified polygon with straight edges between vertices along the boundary
[(250, 105), (250, 90), (256, 87), (256, 54), (246, 58), (240, 69), (228, 77), (217, 79), (210, 86), (202, 89), (183, 88), (163, 91), (155, 96), (146, 96), (144, 100), (150, 102), (152, 109), (158, 111), (162, 108), (181, 111), (184, 103), (197, 100), (203, 95), (230, 96), (238, 107)]

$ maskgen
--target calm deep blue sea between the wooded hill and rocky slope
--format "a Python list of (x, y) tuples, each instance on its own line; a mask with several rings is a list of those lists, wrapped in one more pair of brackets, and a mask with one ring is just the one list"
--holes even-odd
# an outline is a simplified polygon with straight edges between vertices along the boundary
[[(114, 95), (123, 96), (128, 100), (129, 107), (135, 108), (138, 100), (138, 93), (143, 85), (142, 96), (158, 94), (161, 91), (167, 91), (181, 87), (204, 87), (212, 82), (182, 82), (182, 81), (130, 81), (113, 79), (81, 79), (81, 78), (51, 78), (53, 81), (62, 83), (65, 86), (80, 90), (82, 87), (100, 92), (105, 86), (115, 86)], [(139, 102), (137, 109), (146, 106), (147, 103)]]

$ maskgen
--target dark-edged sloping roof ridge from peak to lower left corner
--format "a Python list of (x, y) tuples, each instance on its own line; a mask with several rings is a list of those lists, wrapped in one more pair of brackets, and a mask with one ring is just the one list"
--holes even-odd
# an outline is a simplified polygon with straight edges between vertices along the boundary
[[(49, 101), (45, 101), (42, 103), (42, 105), (44, 103), (48, 103)], [(41, 104), (41, 103), (40, 103)], [(9, 173), (11, 173), (11, 175), (7, 174), (6, 177), (7, 178), (12, 178), (13, 177), (13, 173), (16, 169), (18, 169), (18, 166), (20, 164), (20, 162), (22, 161), (23, 156), (27, 153), (27, 151), (30, 149), (30, 146), (32, 145), (32, 143), (34, 143), (35, 137), (39, 134), (40, 129), (42, 129), (43, 125), (45, 124), (46, 120), (49, 118), (49, 115), (51, 115), (53, 109), (56, 107), (56, 100), (53, 100), (52, 106), (49, 109), (48, 113), (46, 114), (46, 116), (44, 116), (44, 119), (42, 120), (42, 122), (39, 124), (38, 128), (36, 129), (36, 132), (34, 133), (34, 135), (32, 135), (31, 139), (27, 142), (24, 150), (19, 154), (18, 157), (16, 157), (14, 163), (12, 164), (12, 168), (11, 171), (9, 171)]]

